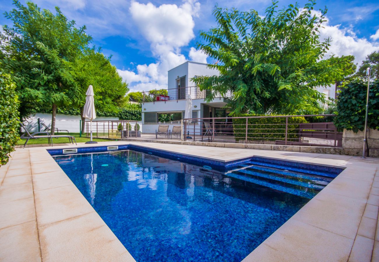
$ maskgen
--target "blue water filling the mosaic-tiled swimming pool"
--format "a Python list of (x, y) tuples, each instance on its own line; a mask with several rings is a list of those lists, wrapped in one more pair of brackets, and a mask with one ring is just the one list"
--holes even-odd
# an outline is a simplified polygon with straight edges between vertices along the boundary
[(332, 180), (256, 162), (224, 173), (132, 150), (54, 158), (137, 261), (240, 261)]

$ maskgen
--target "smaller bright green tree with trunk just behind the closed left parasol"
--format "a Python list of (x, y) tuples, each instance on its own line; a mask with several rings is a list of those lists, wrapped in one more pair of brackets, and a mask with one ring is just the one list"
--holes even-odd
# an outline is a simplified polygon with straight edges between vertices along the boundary
[(85, 118), (83, 118), (83, 107), (86, 99), (86, 90), (91, 84), (94, 88), (96, 110), (117, 113), (119, 108), (127, 103), (125, 94), (128, 85), (122, 81), (117, 73), (116, 67), (111, 65), (110, 57), (105, 57), (101, 49), (95, 51), (93, 48), (75, 60), (72, 72), (78, 89), (72, 96), (73, 106), (80, 109), (82, 119), (82, 132), (84, 132)]

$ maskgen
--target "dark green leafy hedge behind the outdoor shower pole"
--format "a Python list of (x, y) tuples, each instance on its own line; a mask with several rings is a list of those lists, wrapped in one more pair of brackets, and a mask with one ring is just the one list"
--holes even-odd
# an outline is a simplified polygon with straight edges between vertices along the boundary
[[(358, 132), (365, 128), (367, 81), (356, 78), (343, 84), (337, 102), (334, 124), (343, 129)], [(379, 129), (379, 80), (370, 83), (368, 100), (368, 128)]]

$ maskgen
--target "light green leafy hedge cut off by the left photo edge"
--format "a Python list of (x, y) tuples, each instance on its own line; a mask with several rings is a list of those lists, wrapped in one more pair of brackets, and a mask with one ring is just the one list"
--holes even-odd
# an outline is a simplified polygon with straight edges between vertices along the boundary
[(0, 165), (5, 165), (9, 153), (19, 140), (19, 100), (9, 75), (0, 72)]

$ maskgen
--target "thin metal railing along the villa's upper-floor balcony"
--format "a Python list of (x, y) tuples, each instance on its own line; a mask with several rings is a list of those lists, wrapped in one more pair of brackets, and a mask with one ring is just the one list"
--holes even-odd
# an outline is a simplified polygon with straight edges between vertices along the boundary
[[(200, 90), (198, 86), (187, 86), (187, 87), (177, 87), (177, 88), (169, 88), (169, 89), (161, 89), (167, 92), (167, 95), (163, 94), (151, 94), (149, 91), (142, 92), (143, 93), (143, 103), (145, 102), (156, 102), (156, 101), (172, 101), (172, 100), (185, 100), (187, 99), (187, 95), (190, 95), (192, 99), (204, 99), (209, 90)], [(158, 90), (159, 91), (159, 90)], [(164, 92), (161, 92), (164, 93)], [(227, 97), (230, 98), (230, 94), (226, 96), (218, 95), (218, 98)]]

